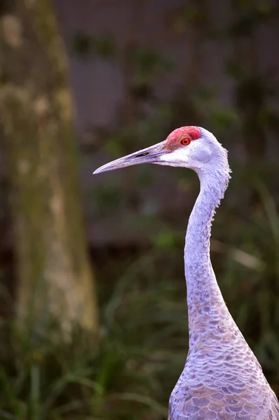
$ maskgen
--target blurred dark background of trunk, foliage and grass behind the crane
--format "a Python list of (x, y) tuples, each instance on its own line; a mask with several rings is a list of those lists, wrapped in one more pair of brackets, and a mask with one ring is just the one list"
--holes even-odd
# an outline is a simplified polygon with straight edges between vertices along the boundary
[(167, 418), (198, 179), (92, 172), (182, 125), (229, 150), (212, 263), (279, 394), (278, 41), (275, 0), (0, 0), (0, 419)]

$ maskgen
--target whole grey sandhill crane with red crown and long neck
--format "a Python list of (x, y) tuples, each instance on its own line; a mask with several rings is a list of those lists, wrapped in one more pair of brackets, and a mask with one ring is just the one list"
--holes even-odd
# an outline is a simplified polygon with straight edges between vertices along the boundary
[(168, 420), (279, 419), (278, 399), (226, 307), (210, 261), (212, 218), (230, 179), (226, 149), (201, 127), (181, 127), (94, 174), (140, 163), (190, 168), (200, 179), (184, 248), (189, 353)]

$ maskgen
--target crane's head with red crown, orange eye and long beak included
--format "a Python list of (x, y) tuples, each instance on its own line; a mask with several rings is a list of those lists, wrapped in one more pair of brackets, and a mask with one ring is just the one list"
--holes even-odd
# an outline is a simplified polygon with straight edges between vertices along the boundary
[(187, 167), (198, 173), (207, 172), (210, 168), (229, 168), (226, 150), (213, 134), (201, 127), (187, 126), (177, 128), (167, 139), (154, 146), (103, 165), (93, 174), (140, 163)]

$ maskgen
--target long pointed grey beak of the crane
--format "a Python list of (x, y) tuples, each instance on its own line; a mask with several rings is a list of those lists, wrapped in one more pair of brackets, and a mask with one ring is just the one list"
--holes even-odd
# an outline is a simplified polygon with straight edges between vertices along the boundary
[(160, 162), (160, 156), (165, 153), (164, 146), (165, 141), (161, 141), (161, 143), (142, 149), (142, 151), (137, 151), (124, 156), (123, 158), (113, 160), (96, 169), (93, 174), (100, 174), (100, 172), (112, 171), (114, 169), (125, 168), (132, 165), (140, 165), (140, 163), (158, 163)]

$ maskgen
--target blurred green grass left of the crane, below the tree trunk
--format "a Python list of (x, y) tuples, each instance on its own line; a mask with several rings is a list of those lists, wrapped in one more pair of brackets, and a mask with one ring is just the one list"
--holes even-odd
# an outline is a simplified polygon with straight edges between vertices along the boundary
[[(139, 263), (153, 269), (149, 255)], [(59, 342), (50, 339), (55, 326), (34, 335), (2, 323), (0, 419), (166, 417), (186, 357), (186, 306), (170, 300), (177, 290), (163, 279), (137, 280), (137, 269), (134, 262), (103, 305), (97, 348), (78, 332)], [(172, 353), (181, 328), (185, 346)]]

